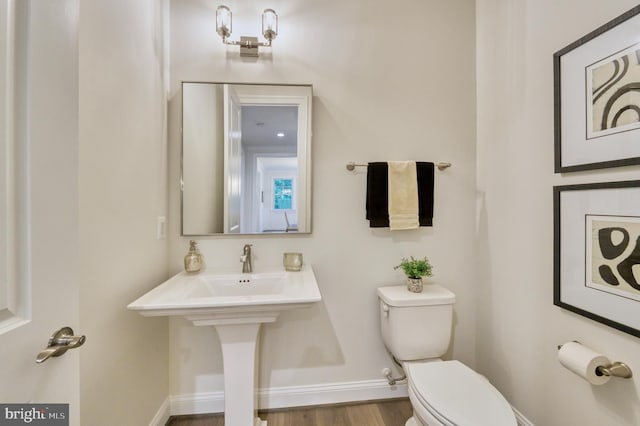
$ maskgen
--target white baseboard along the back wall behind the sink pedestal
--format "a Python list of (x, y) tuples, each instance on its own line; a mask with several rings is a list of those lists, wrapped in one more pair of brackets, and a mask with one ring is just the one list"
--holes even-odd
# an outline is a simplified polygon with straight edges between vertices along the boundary
[[(386, 380), (285, 386), (258, 390), (258, 408), (340, 404), (407, 397), (407, 385), (389, 386)], [(224, 412), (224, 392), (202, 392), (169, 397), (172, 416)]]

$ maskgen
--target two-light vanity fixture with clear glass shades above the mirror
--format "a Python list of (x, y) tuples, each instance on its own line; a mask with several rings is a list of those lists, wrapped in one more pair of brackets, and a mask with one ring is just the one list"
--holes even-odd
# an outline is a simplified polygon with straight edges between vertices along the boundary
[(216, 10), (216, 32), (224, 44), (240, 46), (240, 56), (258, 56), (258, 47), (271, 47), (278, 35), (278, 15), (273, 9), (262, 12), (262, 35), (267, 42), (259, 42), (258, 37), (241, 36), (240, 40), (229, 40), (232, 31), (232, 13), (227, 6), (218, 6)]

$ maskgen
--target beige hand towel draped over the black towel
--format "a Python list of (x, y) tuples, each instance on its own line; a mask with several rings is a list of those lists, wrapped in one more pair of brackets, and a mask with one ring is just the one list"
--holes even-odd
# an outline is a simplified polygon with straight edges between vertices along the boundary
[(415, 161), (389, 161), (389, 228), (418, 229), (418, 177)]

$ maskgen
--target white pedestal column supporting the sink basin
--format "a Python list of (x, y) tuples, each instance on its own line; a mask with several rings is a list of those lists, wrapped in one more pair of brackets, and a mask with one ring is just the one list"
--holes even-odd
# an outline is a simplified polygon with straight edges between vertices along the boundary
[(260, 323), (216, 325), (224, 363), (224, 424), (266, 426), (257, 417), (256, 344)]

